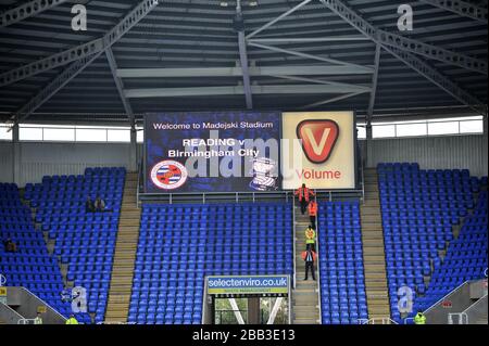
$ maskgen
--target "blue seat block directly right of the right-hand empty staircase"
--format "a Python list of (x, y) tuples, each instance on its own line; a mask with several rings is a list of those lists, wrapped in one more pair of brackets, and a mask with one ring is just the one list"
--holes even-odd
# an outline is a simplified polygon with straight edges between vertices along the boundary
[(479, 180), (464, 170), (422, 170), (418, 164), (379, 164), (387, 273), (392, 319), (400, 322), (398, 290), (415, 300), (426, 293), (424, 277), (441, 266), (440, 251), (453, 240), (452, 226), (474, 208)]

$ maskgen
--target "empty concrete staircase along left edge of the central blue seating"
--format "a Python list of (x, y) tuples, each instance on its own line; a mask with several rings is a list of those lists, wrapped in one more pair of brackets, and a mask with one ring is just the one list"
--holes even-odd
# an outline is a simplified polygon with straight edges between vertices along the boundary
[(115, 243), (106, 323), (127, 322), (133, 291), (134, 266), (139, 239), (141, 210), (136, 206), (137, 174), (126, 175)]

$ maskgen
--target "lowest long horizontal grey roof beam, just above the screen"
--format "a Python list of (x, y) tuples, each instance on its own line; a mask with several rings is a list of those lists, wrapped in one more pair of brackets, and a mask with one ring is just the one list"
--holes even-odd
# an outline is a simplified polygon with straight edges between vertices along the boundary
[[(364, 87), (356, 86), (327, 86), (327, 85), (280, 85), (280, 86), (251, 86), (253, 94), (322, 94), (322, 93), (353, 93), (367, 92)], [(176, 97), (221, 97), (242, 95), (244, 88), (236, 87), (199, 87), (199, 88), (154, 88), (154, 89), (126, 89), (128, 99), (138, 98), (176, 98)]]

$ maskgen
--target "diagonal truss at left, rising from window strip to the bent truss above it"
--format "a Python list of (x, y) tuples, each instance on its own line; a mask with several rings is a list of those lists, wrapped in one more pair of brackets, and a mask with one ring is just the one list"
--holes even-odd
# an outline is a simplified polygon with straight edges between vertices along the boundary
[(30, 116), (38, 107), (52, 98), (58, 91), (66, 86), (73, 78), (78, 76), (88, 65), (97, 60), (102, 52), (96, 53), (90, 56), (85, 56), (64, 69), (57, 78), (54, 78), (47, 87), (36, 94), (30, 101), (28, 101), (22, 108), (20, 108), (11, 120), (15, 124), (20, 124)]

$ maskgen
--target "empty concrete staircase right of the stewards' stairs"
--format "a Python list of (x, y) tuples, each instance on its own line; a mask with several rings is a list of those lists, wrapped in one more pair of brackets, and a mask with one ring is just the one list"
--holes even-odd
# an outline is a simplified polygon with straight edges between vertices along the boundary
[(377, 170), (366, 168), (364, 179), (365, 201), (360, 213), (368, 318), (383, 319), (390, 317), (390, 305)]

